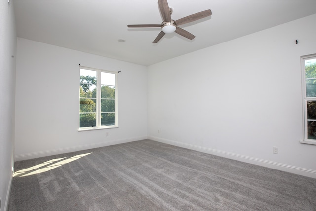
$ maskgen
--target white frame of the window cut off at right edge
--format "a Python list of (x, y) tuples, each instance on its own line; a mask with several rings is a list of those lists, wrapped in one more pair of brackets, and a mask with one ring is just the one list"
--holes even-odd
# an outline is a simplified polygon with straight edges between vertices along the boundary
[[(308, 139), (307, 101), (316, 101), (316, 97), (306, 97), (305, 60), (316, 58), (316, 54), (301, 56), (302, 97), (303, 97), (303, 140), (301, 143), (316, 145), (315, 139)], [(314, 120), (314, 119), (313, 119)], [(312, 121), (313, 121), (312, 120)]]

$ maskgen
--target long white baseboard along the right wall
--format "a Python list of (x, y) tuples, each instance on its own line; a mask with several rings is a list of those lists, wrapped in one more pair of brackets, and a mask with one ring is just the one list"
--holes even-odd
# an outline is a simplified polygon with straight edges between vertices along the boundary
[(166, 144), (170, 144), (170, 145), (174, 145), (174, 146), (178, 146), (178, 147), (196, 150), (199, 152), (217, 155), (217, 156), (221, 156), (224, 158), (230, 158), (230, 159), (242, 161), (245, 163), (255, 164), (255, 165), (259, 165), (259, 166), (263, 166), (263, 167), (268, 167), (271, 169), (277, 169), (277, 170), (281, 170), (281, 171), (299, 174), (302, 176), (316, 178), (316, 170), (312, 170), (312, 169), (304, 169), (304, 168), (300, 168), (300, 167), (290, 166), (290, 165), (276, 163), (276, 162), (267, 161), (267, 160), (258, 159), (258, 158), (252, 158), (252, 157), (248, 157), (248, 156), (238, 155), (238, 154), (229, 153), (229, 152), (220, 151), (220, 150), (215, 150), (215, 149), (211, 149), (211, 148), (200, 147), (200, 146), (193, 145), (193, 144), (181, 143), (178, 141), (163, 139), (163, 138), (159, 138), (159, 137), (155, 137), (155, 136), (148, 136), (148, 139), (162, 142), (162, 143), (166, 143)]

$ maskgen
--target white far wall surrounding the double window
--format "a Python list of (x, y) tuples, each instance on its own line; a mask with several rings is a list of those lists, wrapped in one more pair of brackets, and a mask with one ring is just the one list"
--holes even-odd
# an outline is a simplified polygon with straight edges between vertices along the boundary
[[(78, 132), (79, 64), (121, 71), (119, 128)], [(147, 67), (18, 38), (15, 112), (16, 160), (145, 139)]]

